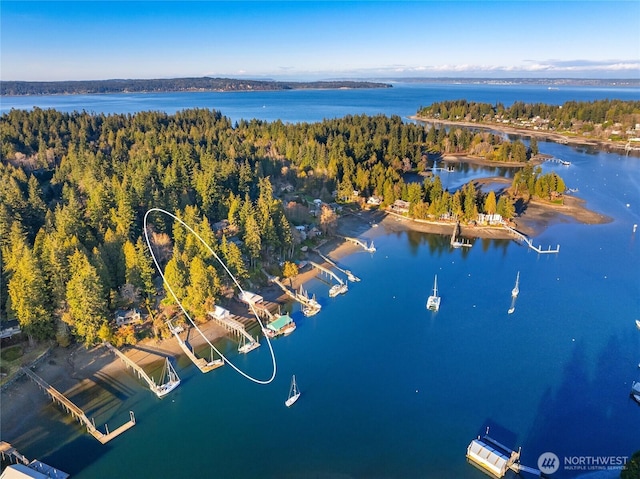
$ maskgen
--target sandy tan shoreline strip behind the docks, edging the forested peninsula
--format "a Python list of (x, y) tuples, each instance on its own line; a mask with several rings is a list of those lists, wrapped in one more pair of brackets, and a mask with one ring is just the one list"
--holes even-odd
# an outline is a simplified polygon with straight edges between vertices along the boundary
[[(462, 160), (460, 160), (462, 161)], [(492, 178), (480, 179), (482, 181), (494, 181)], [(529, 237), (543, 232), (549, 225), (561, 222), (575, 221), (582, 224), (603, 224), (612, 221), (605, 215), (588, 210), (584, 207), (585, 201), (575, 197), (565, 196), (569, 204), (553, 205), (530, 201), (527, 209), (514, 219), (516, 229)], [(375, 228), (378, 225), (379, 228)], [(392, 232), (417, 231), (422, 233), (441, 234), (450, 236), (454, 223), (422, 222), (415, 221), (387, 211), (362, 210), (342, 216), (338, 221), (337, 233), (342, 236), (359, 237), (364, 233), (370, 236), (375, 229), (375, 236), (382, 236)], [(461, 225), (459, 237), (464, 238), (491, 238), (513, 240), (513, 235), (502, 227), (467, 226)], [(329, 238), (317, 247), (332, 260), (339, 260), (361, 250), (361, 248), (340, 237)], [(309, 256), (316, 255), (314, 251)], [(311, 259), (311, 258), (310, 258)], [(319, 256), (316, 259), (320, 264), (324, 263)], [(307, 281), (313, 279), (317, 272), (312, 268), (305, 268), (297, 276), (291, 278), (290, 287), (298, 289)], [(282, 290), (276, 285), (267, 285), (258, 291), (265, 300), (284, 303), (289, 301)], [(245, 308), (231, 305), (232, 313), (243, 314)], [(206, 333), (207, 338), (213, 342), (224, 337), (226, 331), (213, 321), (208, 321), (199, 327)], [(206, 342), (197, 334), (191, 335), (193, 348), (198, 351)], [(150, 368), (161, 367), (165, 357), (174, 357), (176, 361), (184, 361), (186, 355), (180, 345), (171, 337), (168, 339), (145, 339), (134, 346), (121, 348), (123, 352), (133, 359), (136, 364), (149, 371)], [(99, 401), (108, 408), (118, 409), (123, 399), (114, 394), (110, 384), (121, 384), (123, 381), (137, 384), (137, 387), (146, 386), (135, 378), (134, 374), (122, 363), (122, 361), (109, 352), (103, 346), (90, 349), (75, 344), (69, 349), (60, 347), (52, 348), (50, 356), (41, 361), (35, 368), (36, 374), (41, 376), (58, 391), (74, 398), (89, 401), (88, 404), (78, 402), (82, 409), (90, 408), (93, 403)], [(25, 441), (30, 442), (28, 433), (37, 428), (38, 417), (42, 410), (51, 404), (48, 396), (39, 390), (32, 381), (26, 377), (16, 380), (13, 384), (2, 390), (2, 408), (0, 410), (0, 424), (2, 425), (2, 439), (20, 446)], [(100, 414), (98, 411), (97, 414)], [(70, 430), (69, 435), (84, 434), (84, 431)]]

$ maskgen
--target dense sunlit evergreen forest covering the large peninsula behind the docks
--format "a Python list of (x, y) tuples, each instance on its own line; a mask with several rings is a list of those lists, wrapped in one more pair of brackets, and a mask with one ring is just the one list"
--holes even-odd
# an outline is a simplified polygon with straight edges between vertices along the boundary
[[(35, 108), (3, 114), (0, 140), (0, 314), (17, 319), (29, 338), (61, 345), (136, 342), (132, 326), (116, 327), (117, 308), (140, 307), (156, 318), (154, 334), (166, 329), (143, 240), (150, 208), (175, 212), (240, 281), (255, 285), (263, 268), (295, 275), (300, 248), (313, 245), (295, 226), (330, 236), (343, 209), (402, 200), (404, 214), (416, 219), (509, 221), (518, 203), (561, 202), (565, 190), (562, 178), (532, 161), (535, 139), (525, 146), (398, 116), (232, 125), (206, 109), (104, 115)], [(519, 171), (498, 193), (474, 183), (448, 191), (430, 170), (450, 154)], [(220, 264), (180, 225), (154, 216), (149, 234), (193, 317), (204, 320), (233, 294)]]

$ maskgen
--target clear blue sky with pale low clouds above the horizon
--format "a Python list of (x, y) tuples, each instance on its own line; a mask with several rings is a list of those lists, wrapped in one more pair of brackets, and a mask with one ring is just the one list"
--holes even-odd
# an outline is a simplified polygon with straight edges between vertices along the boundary
[(640, 78), (640, 1), (0, 2), (0, 79)]

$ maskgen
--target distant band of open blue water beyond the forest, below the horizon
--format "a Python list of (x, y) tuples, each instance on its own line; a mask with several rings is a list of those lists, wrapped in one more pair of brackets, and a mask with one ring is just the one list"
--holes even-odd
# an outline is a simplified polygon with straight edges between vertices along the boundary
[(294, 90), (223, 93), (148, 93), (113, 95), (52, 95), (0, 97), (0, 113), (17, 109), (55, 108), (60, 111), (135, 113), (160, 110), (175, 113), (187, 108), (220, 110), (232, 121), (313, 122), (345, 115), (411, 116), (434, 101), (467, 99), (486, 103), (515, 101), (562, 104), (568, 100), (638, 100), (639, 88), (562, 87), (541, 85), (434, 85), (394, 83), (393, 88), (363, 90)]

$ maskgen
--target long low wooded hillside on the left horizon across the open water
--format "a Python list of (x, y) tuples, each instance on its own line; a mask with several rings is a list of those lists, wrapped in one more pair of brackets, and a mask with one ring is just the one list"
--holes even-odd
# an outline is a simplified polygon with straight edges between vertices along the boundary
[(391, 88), (368, 81), (281, 82), (232, 78), (169, 78), (155, 80), (0, 81), (0, 95), (82, 95), (99, 93), (159, 93), (178, 91), (264, 91), (338, 88)]

